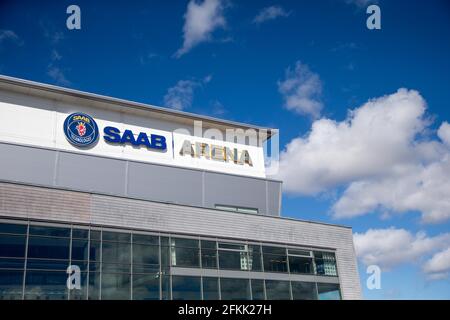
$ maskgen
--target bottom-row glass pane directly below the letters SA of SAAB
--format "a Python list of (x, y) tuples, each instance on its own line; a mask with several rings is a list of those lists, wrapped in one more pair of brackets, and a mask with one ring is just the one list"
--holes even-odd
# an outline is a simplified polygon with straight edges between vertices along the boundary
[(102, 300), (130, 300), (130, 275), (125, 273), (102, 273)]

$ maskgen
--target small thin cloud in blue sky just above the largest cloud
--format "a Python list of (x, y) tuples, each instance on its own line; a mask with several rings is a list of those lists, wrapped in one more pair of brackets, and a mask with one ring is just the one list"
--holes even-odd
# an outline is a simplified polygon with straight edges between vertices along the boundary
[(320, 115), (322, 82), (306, 64), (297, 61), (294, 69), (287, 68), (285, 79), (278, 81), (278, 91), (288, 110), (315, 118)]

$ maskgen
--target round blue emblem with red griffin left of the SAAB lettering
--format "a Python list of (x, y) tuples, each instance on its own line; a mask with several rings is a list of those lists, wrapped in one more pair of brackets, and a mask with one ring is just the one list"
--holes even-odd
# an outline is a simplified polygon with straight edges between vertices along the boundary
[(97, 141), (98, 126), (91, 116), (76, 112), (64, 121), (64, 134), (71, 144), (77, 147), (87, 147)]

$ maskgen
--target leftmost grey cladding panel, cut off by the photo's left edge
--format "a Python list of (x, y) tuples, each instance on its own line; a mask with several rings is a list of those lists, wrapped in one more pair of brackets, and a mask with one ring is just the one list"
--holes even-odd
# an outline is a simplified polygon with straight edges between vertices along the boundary
[(5, 180), (53, 185), (55, 152), (0, 144), (0, 177)]

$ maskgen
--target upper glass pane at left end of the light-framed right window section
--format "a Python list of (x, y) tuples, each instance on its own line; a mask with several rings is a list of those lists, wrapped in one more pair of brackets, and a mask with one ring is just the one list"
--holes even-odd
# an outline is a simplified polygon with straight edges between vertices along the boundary
[(198, 240), (171, 239), (172, 265), (177, 267), (200, 267)]

